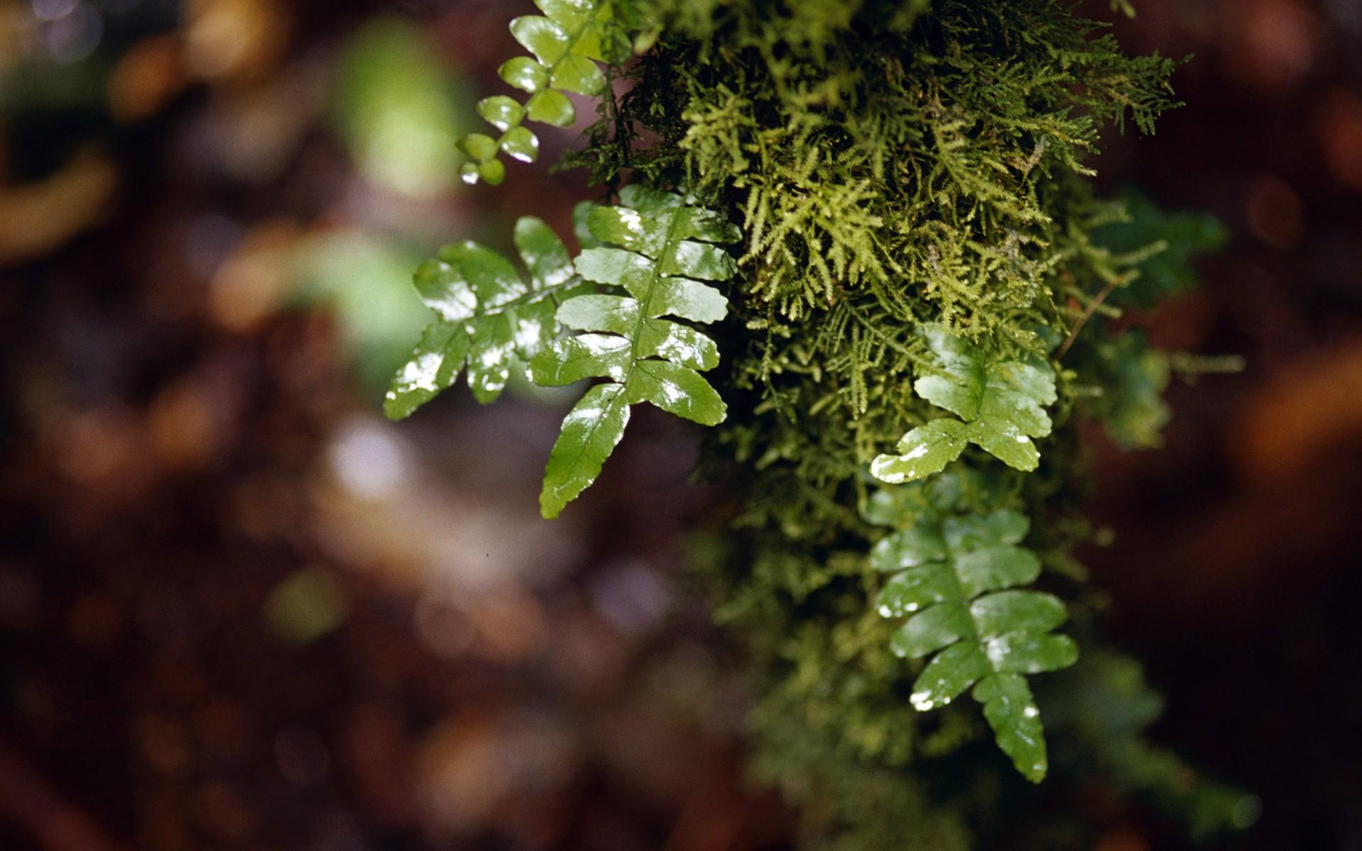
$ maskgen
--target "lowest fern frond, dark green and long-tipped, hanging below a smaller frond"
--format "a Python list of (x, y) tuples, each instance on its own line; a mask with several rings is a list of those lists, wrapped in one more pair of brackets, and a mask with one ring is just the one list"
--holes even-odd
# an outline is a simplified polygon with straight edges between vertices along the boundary
[(1073, 664), (1077, 647), (1050, 632), (1065, 621), (1058, 598), (1017, 590), (1041, 575), (1035, 553), (1017, 546), (1028, 528), (1011, 509), (944, 519), (923, 512), (880, 541), (870, 564), (891, 575), (880, 614), (908, 615), (891, 649), (913, 659), (936, 654), (914, 682), (914, 708), (943, 707), (972, 685), (998, 746), (1039, 783), (1049, 762), (1024, 675)]

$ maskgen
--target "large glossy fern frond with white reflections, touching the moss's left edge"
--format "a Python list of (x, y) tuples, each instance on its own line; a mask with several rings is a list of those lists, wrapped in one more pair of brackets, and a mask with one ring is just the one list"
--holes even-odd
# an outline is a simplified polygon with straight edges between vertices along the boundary
[(723, 400), (700, 376), (719, 362), (714, 340), (662, 317), (723, 319), (727, 300), (701, 282), (733, 276), (733, 259), (716, 244), (740, 234), (720, 214), (669, 192), (633, 185), (620, 200), (622, 207), (590, 210), (587, 227), (602, 246), (583, 251), (576, 267), (584, 279), (628, 295), (565, 301), (558, 321), (584, 334), (558, 339), (530, 361), (537, 384), (610, 381), (588, 389), (563, 421), (539, 494), (545, 517), (556, 517), (601, 474), (629, 422), (631, 404), (651, 402), (703, 425), (726, 415)]

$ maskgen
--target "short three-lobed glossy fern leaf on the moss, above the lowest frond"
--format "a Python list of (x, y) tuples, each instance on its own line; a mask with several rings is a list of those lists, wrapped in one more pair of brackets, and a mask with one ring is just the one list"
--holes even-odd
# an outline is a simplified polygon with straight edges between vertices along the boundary
[(1050, 433), (1045, 406), (1056, 400), (1054, 370), (1045, 364), (990, 361), (977, 346), (944, 331), (926, 332), (941, 372), (917, 380), (919, 396), (957, 414), (913, 429), (899, 441), (899, 455), (880, 455), (870, 472), (902, 483), (940, 472), (977, 444), (1017, 470), (1035, 470), (1041, 453), (1032, 437)]

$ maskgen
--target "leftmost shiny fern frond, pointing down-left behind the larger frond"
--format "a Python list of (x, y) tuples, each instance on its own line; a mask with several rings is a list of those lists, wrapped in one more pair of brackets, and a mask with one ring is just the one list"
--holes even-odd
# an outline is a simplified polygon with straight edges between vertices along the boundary
[(530, 270), (528, 286), (509, 260), (471, 241), (447, 245), (417, 270), (417, 290), (437, 319), (392, 380), (383, 406), (390, 418), (409, 417), (464, 366), (474, 398), (494, 402), (513, 361), (527, 362), (558, 336), (558, 301), (582, 286), (568, 249), (531, 216), (516, 222), (515, 245)]

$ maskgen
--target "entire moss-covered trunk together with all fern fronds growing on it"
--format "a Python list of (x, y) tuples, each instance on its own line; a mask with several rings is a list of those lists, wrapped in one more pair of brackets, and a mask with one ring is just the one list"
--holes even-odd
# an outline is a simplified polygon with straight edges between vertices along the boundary
[[(595, 481), (631, 406), (722, 422), (706, 466), (740, 474), (708, 579), (767, 677), (752, 716), (759, 768), (828, 814), (829, 846), (1000, 836), (963, 803), (1005, 788), (998, 760), (962, 748), (979, 727), (970, 713), (937, 709), (972, 689), (1020, 773), (1046, 773), (1026, 677), (1069, 666), (1076, 648), (1051, 632), (1065, 606), (1026, 587), (1042, 561), (1081, 575), (1072, 553), (1087, 527), (1056, 500), (1083, 478), (1075, 421), (1156, 443), (1170, 361), (1110, 320), (1188, 285), (1188, 259), (1218, 238), (1205, 219), (1147, 203), (1126, 215), (1087, 180), (1105, 124), (1148, 132), (1173, 105), (1175, 63), (1124, 54), (1057, 0), (537, 3), (543, 16), (511, 25), (534, 57), (501, 67), (530, 97), (478, 105), (498, 135), (463, 139), (464, 180), (500, 182), (501, 154), (534, 159), (523, 123), (572, 124), (575, 93), (598, 98), (599, 120), (565, 162), (612, 192), (633, 185), (618, 207), (577, 206), (576, 263), (523, 219), (530, 286), (471, 244), (422, 267), (417, 286), (440, 319), (388, 414), (464, 365), (484, 402), (518, 359), (538, 384), (603, 379), (563, 422), (546, 517)], [(627, 61), (617, 99), (609, 82)], [(537, 253), (520, 238), (530, 230)], [(703, 373), (719, 343), (693, 325), (726, 316), (712, 285), (730, 279), (738, 316), (710, 331), (730, 359), (716, 392)], [(923, 425), (903, 434), (906, 422)], [(895, 440), (896, 455), (880, 453)], [(971, 444), (1004, 464), (967, 455)], [(868, 497), (868, 467), (891, 485), (930, 479)], [(1032, 528), (1042, 516), (1053, 521)], [(914, 677), (900, 656), (925, 666)], [(914, 762), (938, 757), (978, 779), (936, 788)], [(1109, 773), (1145, 771), (1136, 762)], [(1148, 776), (1167, 786), (1174, 773)]]

